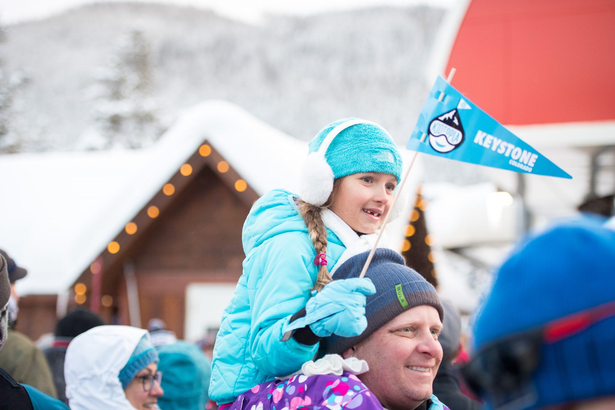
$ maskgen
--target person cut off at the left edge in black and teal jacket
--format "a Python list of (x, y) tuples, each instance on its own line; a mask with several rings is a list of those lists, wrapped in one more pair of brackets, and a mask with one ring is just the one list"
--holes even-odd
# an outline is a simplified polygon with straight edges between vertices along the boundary
[[(7, 340), (9, 327), (9, 272), (6, 259), (0, 255), (0, 351)], [(0, 368), (0, 410), (66, 410), (60, 400), (30, 386), (22, 385)]]

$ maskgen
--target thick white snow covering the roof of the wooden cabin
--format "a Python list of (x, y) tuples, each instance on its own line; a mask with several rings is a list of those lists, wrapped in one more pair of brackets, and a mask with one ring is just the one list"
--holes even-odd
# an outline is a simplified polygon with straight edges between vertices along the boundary
[[(297, 191), (308, 143), (220, 100), (186, 110), (151, 148), (0, 156), (0, 248), (28, 269), (20, 294), (67, 289), (204, 140), (258, 195)], [(407, 166), (411, 153), (400, 151)], [(410, 175), (413, 197), (420, 160)], [(390, 237), (401, 243), (407, 223), (392, 223)]]

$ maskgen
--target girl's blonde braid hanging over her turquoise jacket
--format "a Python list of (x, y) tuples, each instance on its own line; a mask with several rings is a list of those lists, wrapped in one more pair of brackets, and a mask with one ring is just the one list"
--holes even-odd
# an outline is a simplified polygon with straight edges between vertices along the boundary
[[(325, 228), (325, 222), (322, 220), (322, 210), (331, 206), (331, 203), (333, 202), (333, 195), (339, 186), (339, 182), (341, 182), (341, 178), (336, 179), (333, 182), (333, 190), (331, 191), (331, 195), (323, 206), (315, 206), (304, 202), (302, 199), (297, 200), (299, 211), (303, 216), (306, 227), (308, 227), (308, 235), (309, 238), (312, 239), (316, 255), (327, 254), (327, 228)], [(312, 287), (312, 291), (320, 292), (322, 288), (332, 280), (333, 278), (331, 278), (327, 265), (320, 265), (318, 269), (318, 277), (316, 278), (314, 287)]]

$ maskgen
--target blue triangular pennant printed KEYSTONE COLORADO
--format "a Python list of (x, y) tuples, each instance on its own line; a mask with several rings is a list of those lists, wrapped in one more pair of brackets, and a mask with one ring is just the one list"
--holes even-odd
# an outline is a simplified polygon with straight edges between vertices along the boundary
[(509, 171), (572, 178), (439, 76), (406, 148)]

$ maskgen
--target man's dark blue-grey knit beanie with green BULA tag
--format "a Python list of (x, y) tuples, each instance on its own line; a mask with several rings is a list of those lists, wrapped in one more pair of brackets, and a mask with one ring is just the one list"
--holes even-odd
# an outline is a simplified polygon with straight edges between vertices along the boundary
[[(335, 271), (334, 280), (358, 278), (368, 254), (369, 252), (364, 252), (344, 262)], [(370, 337), (395, 316), (416, 306), (433, 306), (438, 311), (440, 320), (444, 320), (444, 308), (434, 286), (415, 270), (408, 268), (402, 255), (392, 249), (376, 249), (365, 277), (370, 278), (376, 286), (376, 293), (368, 295), (365, 303), (367, 328), (355, 337), (341, 337), (335, 334), (326, 337), (324, 343), (327, 353), (341, 355)]]

